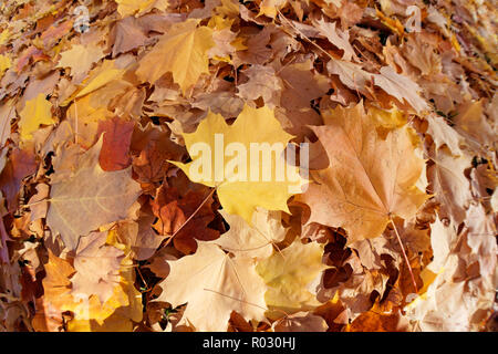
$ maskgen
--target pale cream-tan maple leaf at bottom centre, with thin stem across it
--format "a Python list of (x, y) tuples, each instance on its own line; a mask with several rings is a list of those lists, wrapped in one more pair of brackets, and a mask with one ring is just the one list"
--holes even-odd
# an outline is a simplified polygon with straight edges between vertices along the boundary
[[(226, 331), (231, 311), (263, 320), (266, 285), (249, 258), (231, 258), (217, 244), (198, 241), (197, 252), (169, 261), (158, 301), (187, 303), (180, 324), (197, 331)], [(215, 315), (216, 314), (216, 315)]]

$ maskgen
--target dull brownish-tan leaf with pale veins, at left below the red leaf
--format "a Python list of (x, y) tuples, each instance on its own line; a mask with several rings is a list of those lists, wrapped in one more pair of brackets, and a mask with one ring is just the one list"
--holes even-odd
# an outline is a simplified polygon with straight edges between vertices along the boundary
[(105, 173), (98, 165), (102, 137), (80, 159), (71, 177), (52, 184), (46, 222), (74, 250), (80, 236), (100, 226), (125, 219), (141, 194), (131, 167)]

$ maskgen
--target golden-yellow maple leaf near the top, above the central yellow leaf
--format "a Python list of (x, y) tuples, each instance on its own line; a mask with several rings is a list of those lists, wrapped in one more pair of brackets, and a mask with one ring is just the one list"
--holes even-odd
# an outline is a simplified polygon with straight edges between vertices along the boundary
[(203, 73), (209, 73), (207, 51), (215, 45), (212, 30), (187, 20), (172, 27), (138, 63), (137, 76), (154, 84), (167, 72), (185, 94)]

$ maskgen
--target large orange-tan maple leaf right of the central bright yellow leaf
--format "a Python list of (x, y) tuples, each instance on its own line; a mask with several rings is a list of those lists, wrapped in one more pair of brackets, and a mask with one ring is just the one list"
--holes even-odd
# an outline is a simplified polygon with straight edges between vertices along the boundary
[(310, 205), (308, 222), (342, 227), (349, 242), (380, 236), (394, 215), (408, 219), (427, 198), (415, 187), (424, 160), (404, 126), (382, 139), (363, 105), (338, 107), (313, 127), (330, 160), (317, 171), (318, 184), (298, 199)]

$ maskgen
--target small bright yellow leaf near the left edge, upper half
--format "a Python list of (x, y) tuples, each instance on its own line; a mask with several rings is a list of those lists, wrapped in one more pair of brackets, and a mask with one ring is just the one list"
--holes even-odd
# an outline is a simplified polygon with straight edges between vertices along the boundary
[(19, 129), (21, 131), (21, 139), (29, 140), (32, 138), (32, 133), (35, 132), (40, 125), (51, 125), (55, 123), (52, 116), (52, 104), (45, 100), (43, 93), (35, 98), (29, 100), (24, 108), (19, 113), (21, 119), (19, 121)]

